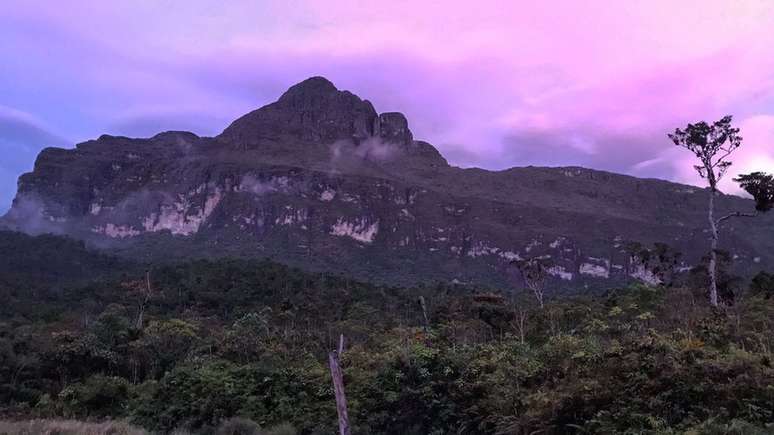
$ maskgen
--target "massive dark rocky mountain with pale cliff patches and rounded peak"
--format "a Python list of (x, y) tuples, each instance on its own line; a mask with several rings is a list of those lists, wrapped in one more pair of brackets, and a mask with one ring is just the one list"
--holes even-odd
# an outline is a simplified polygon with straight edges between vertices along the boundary
[[(453, 167), (402, 114), (314, 77), (216, 137), (103, 135), (47, 148), (3, 221), (134, 260), (269, 257), (392, 284), (520, 285), (513, 261), (541, 257), (559, 291), (655, 282), (667, 279), (659, 262), (698, 263), (707, 195), (579, 167)], [(719, 213), (753, 209), (718, 202)], [(738, 273), (772, 268), (772, 223), (726, 226)], [(651, 255), (655, 243), (682, 257)]]

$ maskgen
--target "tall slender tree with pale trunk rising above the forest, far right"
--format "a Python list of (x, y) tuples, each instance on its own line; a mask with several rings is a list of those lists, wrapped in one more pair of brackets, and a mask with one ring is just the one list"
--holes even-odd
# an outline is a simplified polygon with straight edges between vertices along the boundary
[[(685, 129), (677, 128), (674, 133), (668, 134), (675, 145), (691, 151), (699, 159), (700, 164), (694, 165), (694, 168), (699, 173), (699, 176), (707, 180), (710, 188), (707, 211), (711, 236), (709, 299), (713, 306), (718, 306), (717, 249), (720, 224), (732, 217), (756, 216), (757, 211), (768, 211), (771, 208), (770, 204), (772, 201), (772, 182), (766, 178), (766, 174), (740, 175), (735, 181), (739, 182), (742, 188), (753, 195), (756, 200), (757, 211), (755, 213), (733, 212), (719, 219), (715, 218), (715, 197), (719, 192), (718, 183), (731, 166), (729, 156), (742, 145), (739, 129), (731, 126), (731, 120), (731, 116), (725, 116), (713, 124), (701, 121), (695, 124), (688, 124)], [(769, 204), (768, 208), (766, 208), (767, 201)]]

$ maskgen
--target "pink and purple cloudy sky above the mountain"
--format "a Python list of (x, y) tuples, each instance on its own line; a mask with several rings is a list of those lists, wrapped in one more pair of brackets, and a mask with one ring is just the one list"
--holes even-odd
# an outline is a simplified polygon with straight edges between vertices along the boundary
[[(725, 114), (745, 138), (732, 172), (774, 171), (772, 29), (770, 0), (6, 0), (0, 139), (4, 122), (67, 143), (216, 134), (325, 75), (406, 113), (456, 165), (698, 183), (666, 133)], [(6, 148), (45, 145), (22, 142)]]

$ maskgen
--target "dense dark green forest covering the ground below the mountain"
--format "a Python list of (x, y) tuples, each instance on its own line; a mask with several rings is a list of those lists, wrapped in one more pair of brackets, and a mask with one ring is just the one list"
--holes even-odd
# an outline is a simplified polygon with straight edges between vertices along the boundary
[(0, 248), (4, 420), (334, 433), (327, 354), (343, 334), (355, 434), (774, 431), (766, 273), (725, 277), (722, 308), (691, 281), (541, 308), (528, 291), (260, 260), (133, 264), (55, 236), (0, 232)]

